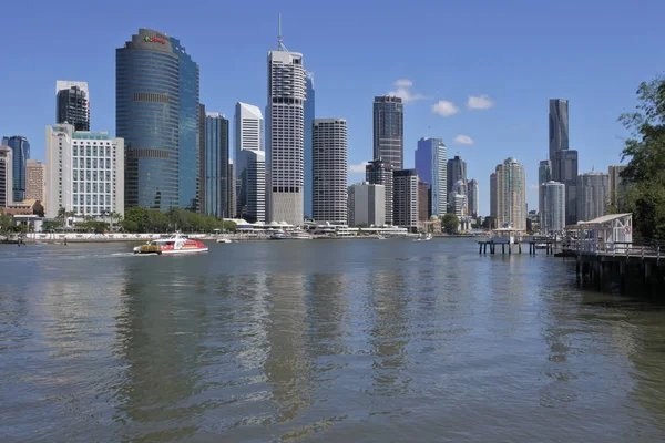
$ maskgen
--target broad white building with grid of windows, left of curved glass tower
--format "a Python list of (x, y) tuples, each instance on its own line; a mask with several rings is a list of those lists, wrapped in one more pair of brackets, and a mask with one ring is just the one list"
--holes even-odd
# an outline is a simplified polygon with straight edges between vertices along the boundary
[(61, 207), (79, 219), (123, 215), (124, 141), (71, 124), (47, 126), (45, 135), (45, 216), (55, 218)]

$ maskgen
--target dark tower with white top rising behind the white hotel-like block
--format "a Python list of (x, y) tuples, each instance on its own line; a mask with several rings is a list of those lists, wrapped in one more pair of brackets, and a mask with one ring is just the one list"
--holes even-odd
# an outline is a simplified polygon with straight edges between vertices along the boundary
[(90, 131), (88, 82), (55, 82), (55, 123), (69, 123), (76, 131)]

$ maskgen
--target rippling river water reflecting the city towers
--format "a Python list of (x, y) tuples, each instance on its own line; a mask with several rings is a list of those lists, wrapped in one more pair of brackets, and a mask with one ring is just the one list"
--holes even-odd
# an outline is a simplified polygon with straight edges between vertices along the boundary
[(0, 441), (662, 442), (665, 310), (471, 239), (0, 247)]

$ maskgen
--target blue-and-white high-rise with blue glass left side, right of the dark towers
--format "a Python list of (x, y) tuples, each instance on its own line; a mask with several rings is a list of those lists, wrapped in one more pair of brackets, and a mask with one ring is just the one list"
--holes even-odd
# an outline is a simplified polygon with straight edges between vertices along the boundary
[(416, 171), (430, 187), (430, 214), (443, 215), (448, 210), (448, 165), (446, 145), (441, 138), (420, 138), (416, 148)]

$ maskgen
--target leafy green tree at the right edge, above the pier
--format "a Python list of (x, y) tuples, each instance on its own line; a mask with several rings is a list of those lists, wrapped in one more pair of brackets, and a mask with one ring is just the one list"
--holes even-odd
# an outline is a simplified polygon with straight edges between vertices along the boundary
[(636, 111), (618, 119), (632, 133), (622, 153), (626, 205), (643, 237), (665, 239), (665, 79), (642, 83), (637, 97)]

